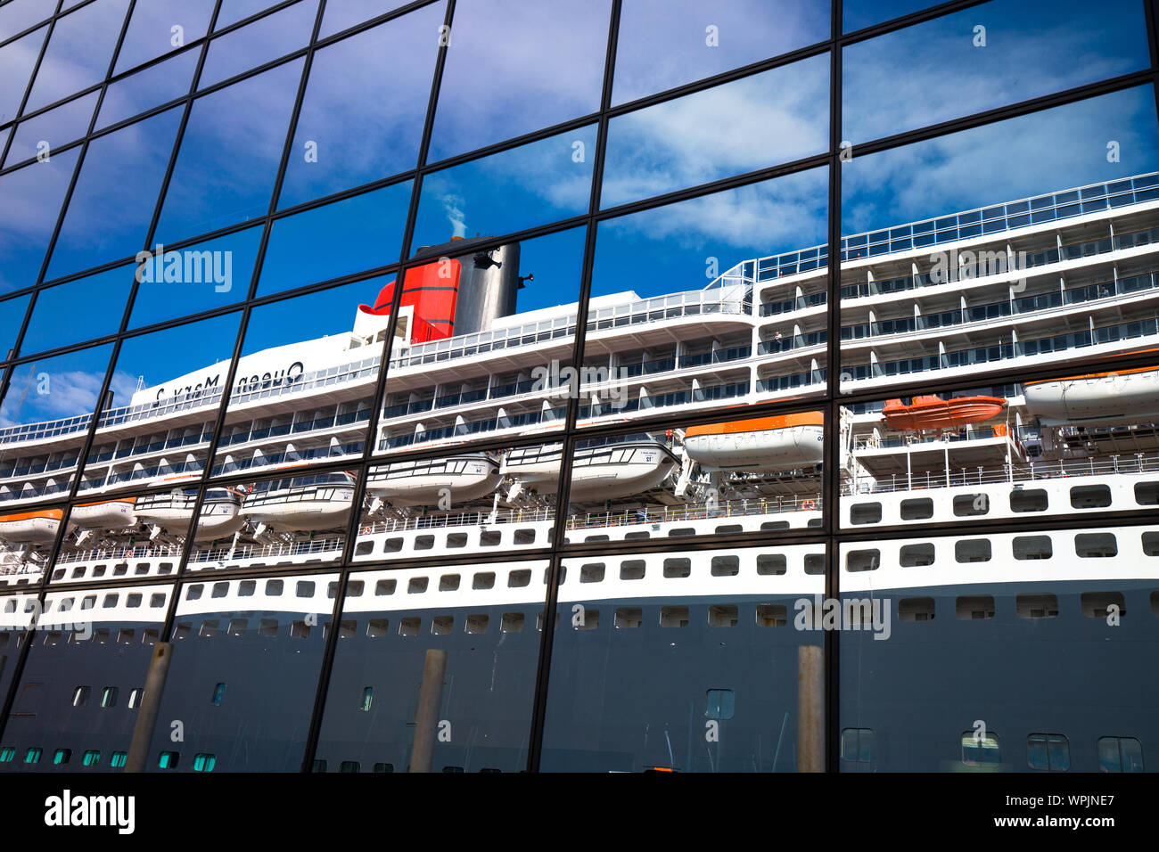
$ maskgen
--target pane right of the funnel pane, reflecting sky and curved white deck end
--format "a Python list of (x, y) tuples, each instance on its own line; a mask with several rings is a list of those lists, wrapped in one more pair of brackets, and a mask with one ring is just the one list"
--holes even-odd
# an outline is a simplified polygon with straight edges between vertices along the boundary
[[(618, 371), (621, 408), (593, 386), (580, 422), (823, 388), (825, 199), (814, 169), (602, 221), (584, 365)], [(786, 291), (801, 270), (816, 282)]]

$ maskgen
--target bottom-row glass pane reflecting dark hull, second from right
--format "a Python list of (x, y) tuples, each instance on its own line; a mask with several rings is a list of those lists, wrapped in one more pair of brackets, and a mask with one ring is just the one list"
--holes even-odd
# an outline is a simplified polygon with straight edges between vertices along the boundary
[[(637, 552), (643, 580), (620, 578), (626, 556), (564, 560), (542, 770), (795, 771), (799, 649), (822, 631), (790, 624), (797, 599), (822, 592), (823, 577), (802, 573), (818, 547)], [(787, 556), (788, 575), (756, 571), (772, 553)], [(738, 559), (737, 575), (710, 573), (724, 555)], [(584, 565), (600, 560), (604, 580), (583, 582)], [(709, 690), (735, 692), (731, 718), (706, 718)]]

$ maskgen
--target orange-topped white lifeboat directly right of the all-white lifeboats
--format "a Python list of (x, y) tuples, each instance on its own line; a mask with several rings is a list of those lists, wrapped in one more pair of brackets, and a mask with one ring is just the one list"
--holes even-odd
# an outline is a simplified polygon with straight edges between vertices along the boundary
[(690, 427), (684, 434), (688, 458), (705, 467), (779, 471), (824, 460), (821, 412), (735, 420)]

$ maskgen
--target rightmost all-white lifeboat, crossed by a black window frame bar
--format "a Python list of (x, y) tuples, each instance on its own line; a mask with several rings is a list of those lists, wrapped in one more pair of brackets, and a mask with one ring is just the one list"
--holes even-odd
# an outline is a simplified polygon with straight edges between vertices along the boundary
[[(504, 473), (527, 488), (551, 493), (560, 478), (562, 445), (517, 447), (508, 452)], [(611, 440), (576, 447), (571, 465), (573, 502), (617, 500), (655, 488), (678, 465), (671, 450), (651, 438)]]

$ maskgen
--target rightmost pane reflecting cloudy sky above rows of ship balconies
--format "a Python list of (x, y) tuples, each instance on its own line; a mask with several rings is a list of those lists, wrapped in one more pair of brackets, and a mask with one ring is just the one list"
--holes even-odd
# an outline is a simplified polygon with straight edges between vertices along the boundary
[[(1140, 293), (1152, 286), (1156, 125), (1146, 86), (854, 154), (841, 169), (843, 387), (1153, 345)], [(1114, 155), (1120, 143), (1130, 156)]]

